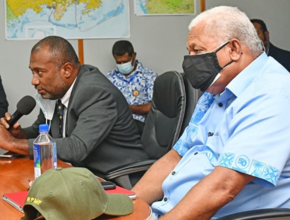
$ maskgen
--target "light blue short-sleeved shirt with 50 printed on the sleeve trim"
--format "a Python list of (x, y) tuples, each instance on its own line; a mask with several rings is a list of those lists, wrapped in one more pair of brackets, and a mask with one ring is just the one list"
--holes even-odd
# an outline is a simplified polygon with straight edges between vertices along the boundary
[(169, 212), (215, 166), (257, 177), (212, 219), (290, 207), (290, 74), (265, 53), (220, 95), (204, 93), (174, 145), (182, 157), (162, 184), (154, 218)]

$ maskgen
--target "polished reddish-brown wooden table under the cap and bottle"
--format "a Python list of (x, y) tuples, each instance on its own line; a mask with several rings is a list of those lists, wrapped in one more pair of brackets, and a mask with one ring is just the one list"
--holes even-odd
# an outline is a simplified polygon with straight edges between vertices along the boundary
[[(71, 167), (60, 160), (57, 161), (57, 166), (62, 168)], [(17, 159), (0, 159), (0, 196), (3, 193), (21, 192), (28, 188), (28, 180), (34, 179), (33, 160), (28, 158)], [(122, 217), (99, 217), (97, 219), (114, 219), (114, 220), (139, 220), (147, 219), (150, 214), (148, 204), (140, 198), (133, 200), (134, 212)], [(6, 201), (0, 201), (0, 219), (20, 219), (24, 214), (12, 207)]]

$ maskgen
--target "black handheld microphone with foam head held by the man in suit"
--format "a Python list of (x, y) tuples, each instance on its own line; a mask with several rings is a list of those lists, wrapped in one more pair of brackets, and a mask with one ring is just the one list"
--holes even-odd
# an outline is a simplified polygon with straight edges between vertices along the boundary
[(16, 105), (16, 111), (11, 116), (11, 119), (7, 121), (9, 126), (11, 127), (15, 124), (23, 115), (28, 115), (34, 109), (35, 105), (36, 102), (31, 96), (24, 96), (21, 98)]

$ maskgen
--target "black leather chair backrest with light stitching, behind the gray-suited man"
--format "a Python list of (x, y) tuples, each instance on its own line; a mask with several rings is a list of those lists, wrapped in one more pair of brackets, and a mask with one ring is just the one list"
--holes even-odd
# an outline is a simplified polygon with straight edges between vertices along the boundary
[(184, 77), (176, 71), (158, 76), (141, 137), (150, 159), (167, 153), (180, 136), (185, 112)]

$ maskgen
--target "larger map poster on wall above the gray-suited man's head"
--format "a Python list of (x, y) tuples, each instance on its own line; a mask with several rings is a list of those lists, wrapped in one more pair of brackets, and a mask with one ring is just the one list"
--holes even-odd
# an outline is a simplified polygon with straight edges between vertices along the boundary
[(124, 38), (128, 0), (4, 0), (7, 40)]

